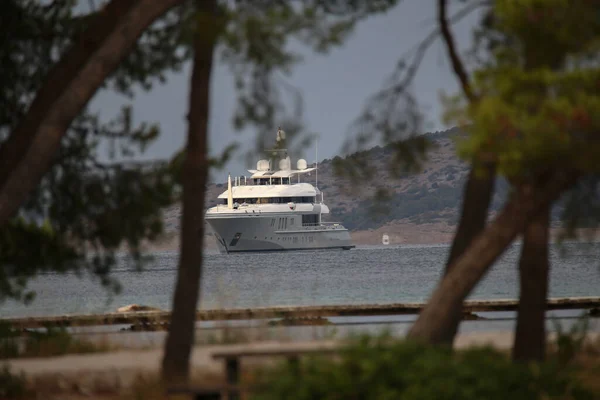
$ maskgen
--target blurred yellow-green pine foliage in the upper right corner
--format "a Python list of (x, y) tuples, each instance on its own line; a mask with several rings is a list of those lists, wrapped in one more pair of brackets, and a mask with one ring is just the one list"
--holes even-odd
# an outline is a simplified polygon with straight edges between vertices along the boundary
[[(448, 119), (469, 122), (461, 154), (491, 153), (510, 178), (548, 168), (597, 172), (600, 147), (598, 44), (594, 2), (495, 2), (489, 30), (502, 41), (473, 74), (476, 104), (449, 102)], [(491, 35), (491, 33), (490, 33)]]

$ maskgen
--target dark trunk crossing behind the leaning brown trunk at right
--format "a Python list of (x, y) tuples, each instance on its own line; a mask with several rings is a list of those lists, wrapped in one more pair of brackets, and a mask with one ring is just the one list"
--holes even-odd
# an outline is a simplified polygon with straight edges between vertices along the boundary
[[(454, 262), (485, 228), (496, 182), (495, 165), (488, 164), (483, 173), (483, 175), (478, 176), (475, 165), (471, 167), (469, 172), (463, 194), (460, 221), (452, 241), (444, 275), (451, 271)], [(450, 313), (452, 321), (448, 324), (448, 330), (441, 332), (439, 341), (440, 343), (452, 345), (462, 319), (462, 304), (460, 307), (451, 310)]]

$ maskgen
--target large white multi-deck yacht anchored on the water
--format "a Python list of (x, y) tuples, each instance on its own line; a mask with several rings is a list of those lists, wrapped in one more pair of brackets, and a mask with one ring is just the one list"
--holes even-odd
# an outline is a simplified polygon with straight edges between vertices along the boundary
[[(283, 142), (285, 133), (277, 132)], [(250, 177), (228, 177), (227, 190), (206, 212), (221, 253), (344, 249), (353, 247), (350, 233), (342, 224), (323, 222), (329, 208), (316, 184), (301, 182), (317, 164), (308, 168), (299, 159), (296, 169), (286, 149), (272, 150), (271, 160), (259, 160)], [(278, 170), (272, 169), (273, 162)]]

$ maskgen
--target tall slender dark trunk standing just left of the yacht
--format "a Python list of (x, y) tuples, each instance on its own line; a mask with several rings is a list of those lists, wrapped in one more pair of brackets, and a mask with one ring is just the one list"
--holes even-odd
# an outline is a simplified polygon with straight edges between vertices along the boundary
[(218, 32), (215, 26), (208, 23), (216, 18), (216, 0), (198, 0), (196, 4), (201, 21), (198, 21), (194, 38), (188, 137), (183, 163), (181, 254), (171, 324), (162, 361), (162, 377), (169, 383), (185, 383), (189, 379), (190, 352), (194, 344), (196, 306), (202, 278), (204, 192), (209, 168), (210, 75)]

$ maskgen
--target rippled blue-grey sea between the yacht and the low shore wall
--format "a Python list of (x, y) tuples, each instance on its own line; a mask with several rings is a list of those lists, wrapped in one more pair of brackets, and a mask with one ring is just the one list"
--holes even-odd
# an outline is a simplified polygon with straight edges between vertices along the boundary
[[(562, 251), (561, 251), (562, 249)], [(439, 280), (448, 246), (362, 247), (350, 251), (207, 254), (202, 308), (417, 302)], [(516, 298), (520, 247), (510, 248), (471, 294), (473, 299)], [(565, 252), (565, 254), (562, 254)], [(553, 246), (550, 295), (600, 295), (600, 244)], [(143, 271), (121, 260), (114, 276), (123, 286), (110, 296), (84, 276), (46, 274), (31, 283), (32, 304), (7, 302), (0, 316), (115, 311), (127, 304), (168, 310), (177, 253), (156, 253)]]

